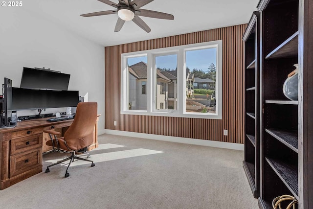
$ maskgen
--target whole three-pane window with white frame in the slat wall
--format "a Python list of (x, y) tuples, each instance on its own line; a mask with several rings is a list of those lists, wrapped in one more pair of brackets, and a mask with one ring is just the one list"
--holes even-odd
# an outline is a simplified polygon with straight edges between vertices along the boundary
[(221, 40), (121, 60), (121, 114), (222, 119)]

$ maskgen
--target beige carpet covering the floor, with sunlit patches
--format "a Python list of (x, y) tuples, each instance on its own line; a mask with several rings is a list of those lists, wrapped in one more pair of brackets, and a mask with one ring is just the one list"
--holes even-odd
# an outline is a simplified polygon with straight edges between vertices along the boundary
[[(258, 209), (242, 151), (102, 135), (95, 166), (50, 168), (0, 191), (1, 209)], [(45, 166), (62, 159), (43, 157)]]

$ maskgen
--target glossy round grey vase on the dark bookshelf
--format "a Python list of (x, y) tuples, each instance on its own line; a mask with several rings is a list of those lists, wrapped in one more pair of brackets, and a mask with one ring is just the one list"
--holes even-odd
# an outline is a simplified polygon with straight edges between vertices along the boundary
[(287, 98), (293, 101), (298, 100), (298, 71), (299, 65), (293, 65), (296, 69), (288, 74), (288, 78), (286, 79), (283, 86), (283, 93)]

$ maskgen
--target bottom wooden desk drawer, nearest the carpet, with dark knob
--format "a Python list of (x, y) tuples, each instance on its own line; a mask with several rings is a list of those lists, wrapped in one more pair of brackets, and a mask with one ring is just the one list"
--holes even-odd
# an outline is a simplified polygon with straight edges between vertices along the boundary
[(42, 164), (42, 149), (37, 148), (10, 157), (10, 178)]

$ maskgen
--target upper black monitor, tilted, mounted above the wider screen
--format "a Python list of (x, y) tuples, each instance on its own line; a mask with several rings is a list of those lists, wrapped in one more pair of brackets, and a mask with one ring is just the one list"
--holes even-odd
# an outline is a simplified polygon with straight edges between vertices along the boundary
[(67, 90), (69, 74), (50, 70), (23, 68), (21, 88)]

